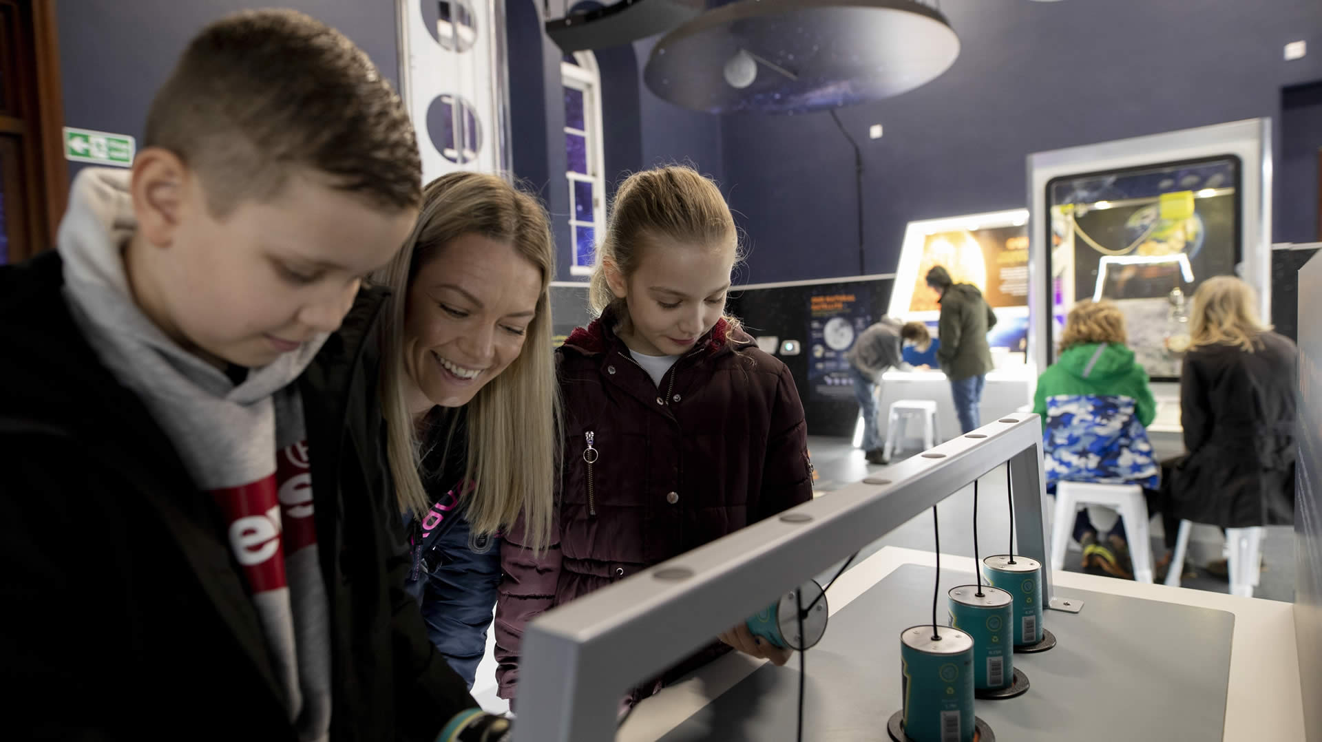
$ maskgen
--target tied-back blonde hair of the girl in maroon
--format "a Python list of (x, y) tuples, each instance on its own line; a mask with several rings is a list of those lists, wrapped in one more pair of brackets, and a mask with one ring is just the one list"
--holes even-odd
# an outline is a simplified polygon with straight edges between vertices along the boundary
[[(642, 249), (657, 238), (709, 250), (732, 249), (736, 263), (743, 257), (739, 229), (715, 183), (686, 165), (633, 173), (615, 192), (605, 237), (596, 250), (588, 283), (594, 313), (609, 308), (620, 321), (628, 320), (624, 299), (605, 279), (605, 263), (628, 279), (642, 261)], [(724, 320), (730, 328), (739, 327), (734, 316), (724, 315)]]

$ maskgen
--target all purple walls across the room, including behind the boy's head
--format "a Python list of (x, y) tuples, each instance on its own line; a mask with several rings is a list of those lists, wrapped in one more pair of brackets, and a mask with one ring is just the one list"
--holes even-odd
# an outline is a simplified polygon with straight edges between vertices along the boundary
[[(267, 4), (59, 3), (66, 123), (140, 138), (188, 38), (233, 9)], [(283, 4), (344, 30), (398, 79), (393, 4)], [(863, 145), (866, 272), (895, 268), (911, 220), (1022, 206), (1031, 152), (1253, 116), (1277, 122), (1277, 239), (1313, 238), (1317, 185), (1314, 176), (1309, 189), (1305, 168), (1318, 114), (1314, 103), (1282, 116), (1282, 89), (1322, 81), (1318, 0), (944, 0), (943, 9), (962, 41), (954, 66), (919, 90), (839, 112)], [(557, 218), (567, 279), (559, 50), (541, 33), (534, 0), (509, 0), (509, 16), (514, 169)], [(1310, 53), (1286, 62), (1281, 48), (1296, 40)], [(747, 231), (743, 280), (857, 274), (853, 152), (830, 118), (719, 119), (672, 106), (641, 82), (653, 42), (600, 56), (608, 186), (627, 172), (691, 161), (717, 177)], [(867, 139), (873, 123), (884, 138)]]

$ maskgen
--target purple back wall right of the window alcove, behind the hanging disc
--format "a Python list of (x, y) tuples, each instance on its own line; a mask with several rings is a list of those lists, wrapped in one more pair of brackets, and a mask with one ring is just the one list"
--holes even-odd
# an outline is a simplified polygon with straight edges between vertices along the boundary
[[(863, 145), (866, 272), (894, 271), (904, 225), (1025, 205), (1031, 152), (1236, 119), (1281, 118), (1322, 79), (1322, 3), (944, 0), (962, 49), (908, 94), (845, 108)], [(1286, 62), (1282, 46), (1309, 42)], [(867, 139), (873, 123), (884, 136)], [(1280, 124), (1277, 123), (1277, 131)], [(1280, 135), (1277, 135), (1280, 151)], [(750, 280), (858, 272), (853, 153), (825, 112), (722, 122)], [(1293, 210), (1292, 193), (1277, 193)]]

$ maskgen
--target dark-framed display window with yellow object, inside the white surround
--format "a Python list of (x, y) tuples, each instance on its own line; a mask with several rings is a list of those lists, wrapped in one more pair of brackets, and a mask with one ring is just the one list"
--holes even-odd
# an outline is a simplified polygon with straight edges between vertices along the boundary
[(1107, 299), (1147, 376), (1178, 381), (1194, 291), (1243, 257), (1241, 172), (1227, 155), (1051, 179), (1048, 349), (1069, 307)]

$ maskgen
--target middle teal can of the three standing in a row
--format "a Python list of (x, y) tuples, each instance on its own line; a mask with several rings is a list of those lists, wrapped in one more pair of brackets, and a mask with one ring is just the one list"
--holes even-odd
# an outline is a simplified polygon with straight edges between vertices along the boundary
[[(1015, 559), (1018, 561), (1018, 559)], [(1014, 684), (1014, 598), (997, 587), (951, 589), (951, 626), (973, 638), (973, 686), (999, 690)]]

